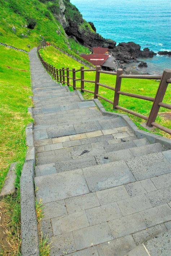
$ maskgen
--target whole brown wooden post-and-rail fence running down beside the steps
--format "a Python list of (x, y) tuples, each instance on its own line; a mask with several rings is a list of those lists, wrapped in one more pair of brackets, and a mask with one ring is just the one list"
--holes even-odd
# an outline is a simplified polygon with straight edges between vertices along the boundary
[[(167, 104), (167, 103), (163, 103), (163, 98), (165, 96), (166, 90), (167, 90), (167, 86), (168, 84), (171, 84), (171, 69), (167, 69), (163, 71), (163, 74), (161, 76), (157, 76), (157, 75), (126, 75), (123, 74), (123, 70), (122, 69), (118, 69), (117, 72), (110, 72), (110, 71), (102, 71), (100, 66), (96, 66), (96, 68), (90, 68), (90, 69), (84, 69), (84, 67), (80, 67), (80, 69), (75, 70), (75, 68), (73, 69), (69, 69), (62, 67), (61, 69), (57, 69), (55, 67), (53, 67), (52, 65), (48, 64), (47, 62), (45, 62), (43, 60), (43, 58), (40, 55), (39, 49), (41, 48), (41, 45), (38, 47), (38, 56), (39, 59), (41, 61), (41, 63), (43, 64), (44, 68), (54, 77), (55, 80), (57, 80), (60, 83), (63, 84), (67, 84), (67, 86), (72, 86), (74, 90), (76, 89), (80, 89), (82, 92), (86, 91), (88, 93), (92, 93), (94, 95), (94, 98), (101, 98), (107, 102), (109, 102), (110, 104), (113, 105), (113, 109), (120, 109), (123, 110), (127, 113), (130, 113), (132, 115), (138, 116), (139, 118), (142, 118), (144, 120), (146, 120), (146, 125), (148, 127), (156, 127), (161, 129), (164, 132), (167, 132), (169, 134), (171, 134), (171, 129), (168, 129), (158, 123), (155, 123), (155, 119), (158, 115), (159, 112), (159, 108), (160, 107), (164, 107), (167, 109), (171, 109), (171, 104)], [(76, 73), (80, 72), (80, 78), (76, 79)], [(84, 72), (95, 72), (95, 80), (86, 80), (84, 79)], [(100, 83), (100, 74), (104, 73), (104, 74), (108, 74), (111, 76), (116, 76), (116, 83), (115, 83), (115, 88), (111, 87), (109, 85), (105, 85), (105, 84), (101, 84)], [(145, 95), (139, 95), (139, 94), (133, 94), (133, 93), (127, 93), (125, 91), (121, 91), (121, 83), (122, 83), (122, 79), (123, 78), (139, 78), (139, 79), (157, 79), (160, 80), (159, 86), (158, 86), (158, 90), (157, 93), (155, 95), (155, 97), (149, 97), (149, 96), (145, 96)], [(80, 81), (80, 86), (76, 87), (76, 82)], [(90, 91), (87, 89), (84, 89), (84, 82), (89, 82), (89, 83), (93, 83), (95, 84), (95, 89), (94, 91)], [(113, 90), (114, 91), (114, 99), (113, 101), (101, 96), (100, 94), (98, 94), (98, 88), (99, 86), (102, 86), (104, 88), (108, 88), (109, 90)], [(150, 110), (150, 114), (149, 116), (145, 116), (142, 115), (140, 113), (137, 113), (135, 111), (129, 110), (127, 108), (124, 108), (122, 106), (119, 106), (119, 95), (126, 95), (129, 97), (134, 97), (134, 98), (138, 98), (138, 99), (144, 99), (146, 101), (152, 101), (153, 102), (153, 106)]]

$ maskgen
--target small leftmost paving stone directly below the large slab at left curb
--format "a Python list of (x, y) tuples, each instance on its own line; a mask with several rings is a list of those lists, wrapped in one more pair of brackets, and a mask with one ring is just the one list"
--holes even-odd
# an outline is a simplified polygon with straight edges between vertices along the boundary
[(64, 200), (50, 202), (43, 206), (43, 219), (52, 219), (67, 214)]

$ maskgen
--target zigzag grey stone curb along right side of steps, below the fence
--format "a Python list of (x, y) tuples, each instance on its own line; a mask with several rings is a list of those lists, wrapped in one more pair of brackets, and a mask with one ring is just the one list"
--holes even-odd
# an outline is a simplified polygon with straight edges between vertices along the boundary
[[(80, 91), (77, 90), (78, 96), (81, 99), (81, 101), (90, 101), (90, 100), (84, 100), (82, 94)], [(171, 149), (171, 140), (159, 135), (152, 134), (150, 132), (146, 132), (143, 130), (140, 130), (137, 128), (136, 124), (133, 123), (133, 121), (127, 116), (126, 114), (118, 114), (113, 112), (108, 112), (105, 110), (104, 106), (101, 104), (101, 102), (98, 99), (92, 99), (91, 101), (94, 101), (97, 105), (98, 109), (103, 115), (113, 115), (114, 117), (121, 117), (124, 121), (126, 121), (127, 125), (132, 129), (132, 132), (135, 134), (137, 138), (146, 138), (149, 140), (152, 144), (153, 143), (161, 143), (166, 149)]]

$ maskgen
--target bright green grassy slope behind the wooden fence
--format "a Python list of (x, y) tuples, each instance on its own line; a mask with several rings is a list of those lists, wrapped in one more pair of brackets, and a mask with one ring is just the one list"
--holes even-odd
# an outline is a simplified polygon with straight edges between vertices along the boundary
[[(48, 63), (54, 65), (56, 68), (61, 68), (61, 67), (69, 67), (70, 69), (71, 68), (76, 68), (76, 69), (80, 68), (80, 63), (78, 63), (77, 61), (71, 59), (70, 57), (62, 54), (61, 52), (54, 49), (53, 47), (47, 47), (45, 49), (41, 49), (40, 52), (41, 52), (41, 55), (43, 56), (44, 60), (46, 60)], [(79, 78), (79, 77), (80, 77), (80, 73), (77, 73), (76, 78)], [(86, 72), (84, 79), (95, 80), (95, 72)], [(115, 76), (111, 76), (111, 75), (107, 75), (107, 74), (100, 75), (100, 82), (102, 84), (115, 86), (115, 79), (116, 79)], [(130, 93), (142, 94), (142, 95), (148, 95), (151, 97), (155, 97), (155, 93), (157, 91), (158, 85), (159, 85), (159, 82), (155, 81), (155, 80), (125, 78), (125, 79), (122, 79), (121, 90), (130, 92)], [(77, 82), (77, 86), (78, 87), (80, 86), (80, 82)], [(93, 91), (94, 84), (85, 83), (85, 89)], [(171, 93), (171, 88), (168, 87), (165, 98), (163, 99), (163, 102), (166, 102), (166, 103), (170, 102), (170, 93)], [(103, 87), (99, 88), (99, 94), (104, 96), (105, 98), (110, 99), (110, 100), (113, 100), (113, 97), (114, 97), (113, 91), (103, 88)], [(93, 98), (93, 94), (89, 94), (89, 93), (84, 93), (83, 96), (86, 99)], [(112, 105), (110, 103), (108, 103), (104, 100), (101, 100), (101, 99), (100, 99), (100, 101), (102, 102), (102, 104), (104, 105), (106, 110), (114, 111), (112, 109)], [(122, 107), (126, 107), (130, 110), (139, 112), (140, 114), (148, 116), (149, 112), (150, 112), (150, 108), (152, 107), (152, 102), (120, 95), (119, 105)], [(166, 108), (161, 107), (159, 112), (167, 112), (167, 111), (168, 110)], [(123, 111), (120, 111), (120, 110), (116, 110), (115, 112), (123, 113)], [(144, 129), (140, 126), (140, 124), (142, 122), (144, 122), (144, 120), (142, 120), (136, 116), (130, 115), (130, 114), (128, 114), (128, 115), (140, 129)], [(168, 120), (165, 120), (161, 116), (158, 116), (156, 121), (159, 124), (164, 125), (165, 127), (171, 128), (171, 122)], [(155, 129), (153, 131), (153, 133), (168, 137), (167, 133), (162, 132), (159, 129)]]

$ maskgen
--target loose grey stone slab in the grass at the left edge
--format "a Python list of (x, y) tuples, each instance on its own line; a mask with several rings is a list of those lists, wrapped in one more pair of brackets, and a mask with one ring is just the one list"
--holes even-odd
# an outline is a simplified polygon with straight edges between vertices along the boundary
[(16, 190), (16, 187), (15, 187), (15, 181), (17, 176), (16, 170), (15, 170), (16, 165), (17, 165), (17, 162), (12, 163), (9, 167), (3, 188), (1, 189), (0, 198), (3, 198), (4, 196), (7, 196), (7, 195), (12, 195)]

